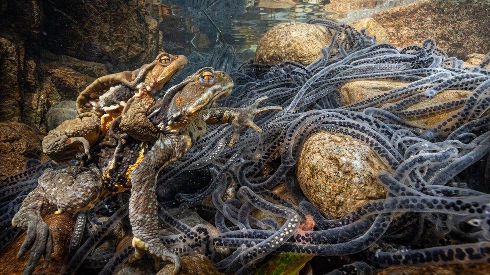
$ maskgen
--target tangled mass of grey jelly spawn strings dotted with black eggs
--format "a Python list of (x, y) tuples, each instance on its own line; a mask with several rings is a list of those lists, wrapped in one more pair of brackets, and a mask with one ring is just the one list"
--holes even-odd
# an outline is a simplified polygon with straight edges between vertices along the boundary
[[(248, 129), (230, 147), (226, 144), (232, 125), (208, 125), (207, 133), (187, 154), (158, 174), (153, 189), (158, 195), (155, 211), (158, 221), (174, 229), (158, 236), (159, 243), (171, 252), (167, 256), (199, 253), (220, 271), (240, 274), (254, 272), (261, 261), (279, 252), (358, 254), (359, 261), (332, 272), (489, 262), (490, 71), (484, 68), (490, 55), (479, 66), (465, 68), (461, 60), (448, 57), (430, 39), (421, 46), (396, 49), (377, 44), (373, 37), (348, 25), (328, 20), (309, 23), (325, 27), (332, 39), (322, 57), (308, 66), (241, 62), (229, 46), (219, 46), (210, 54), (191, 54), (188, 65), (175, 75), (173, 84), (177, 86), (169, 91), (181, 89), (178, 83), (185, 83), (184, 78), (200, 68), (213, 67), (228, 74), (234, 83), (232, 92), (218, 99), (217, 105), (256, 110), (263, 102), (269, 112), (257, 114), (255, 120), (252, 117), (262, 133)], [(339, 87), (347, 81), (366, 79), (407, 84), (343, 104)], [(463, 99), (404, 110), (448, 89), (470, 93)], [(156, 102), (168, 101), (166, 96)], [(451, 116), (428, 129), (408, 122), (409, 118), (448, 110), (453, 111)], [(370, 201), (338, 219), (325, 218), (308, 201), (298, 187), (295, 167), (306, 139), (322, 131), (349, 136), (376, 152), (389, 168), (378, 176), (387, 189), (386, 198)], [(135, 144), (135, 152), (144, 146)], [(273, 159), (277, 161), (271, 164)], [(12, 219), (43, 173), (78, 165), (65, 168), (52, 161), (32, 160), (24, 171), (1, 180), (2, 249), (22, 231), (12, 226)], [(91, 160), (83, 165), (97, 167)], [(273, 169), (266, 173), (266, 165)], [(204, 174), (201, 180), (209, 179), (204, 188), (196, 193), (162, 195), (168, 186), (184, 185), (191, 170)], [(299, 204), (271, 192), (285, 181)], [(129, 223), (127, 216), (134, 210), (129, 205), (130, 192), (119, 192), (78, 213), (62, 273), (79, 268), (114, 273), (135, 253), (133, 245), (128, 245), (108, 254), (91, 254), (120, 221)], [(207, 224), (190, 227), (181, 222), (178, 215), (166, 210), (175, 207), (180, 212), (191, 208), (207, 213), (203, 216), (211, 217), (208, 221), (217, 232)], [(258, 219), (251, 214), (256, 209), (271, 216)], [(29, 272), (43, 253), (48, 256), (48, 236), (49, 230), (28, 231), (28, 238), (36, 239), (26, 267)], [(23, 247), (25, 251), (29, 248)], [(224, 257), (217, 252), (222, 248), (229, 249)]]

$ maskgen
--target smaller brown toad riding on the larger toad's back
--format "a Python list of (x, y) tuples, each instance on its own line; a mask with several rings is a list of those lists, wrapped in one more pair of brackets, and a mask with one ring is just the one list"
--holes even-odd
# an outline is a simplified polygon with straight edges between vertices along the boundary
[[(162, 53), (155, 61), (133, 72), (125, 71), (100, 77), (83, 90), (76, 100), (78, 115), (49, 131), (43, 139), (43, 152), (59, 163), (71, 160), (79, 153), (90, 158), (93, 146), (109, 129), (133, 95), (134, 90), (145, 94), (143, 107), (154, 101), (171, 77), (187, 64), (182, 55)], [(131, 129), (127, 129), (131, 132)]]

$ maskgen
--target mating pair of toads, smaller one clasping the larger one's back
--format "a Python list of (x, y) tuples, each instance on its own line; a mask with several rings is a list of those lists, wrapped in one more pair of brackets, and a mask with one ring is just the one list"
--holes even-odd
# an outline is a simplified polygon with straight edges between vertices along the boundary
[(256, 115), (282, 109), (258, 108), (267, 97), (245, 108), (216, 107), (216, 100), (231, 92), (233, 81), (213, 68), (198, 70), (155, 100), (156, 91), (186, 63), (184, 56), (163, 53), (133, 72), (96, 79), (77, 99), (79, 115), (44, 138), (43, 150), (53, 161), (78, 158), (81, 165), (47, 169), (12, 219), (14, 226), (27, 229), (18, 253), (20, 257), (31, 250), (25, 273), (33, 272), (42, 255), (45, 264), (51, 257), (51, 233), (42, 209), (51, 205), (58, 208), (56, 213), (76, 213), (128, 189), (134, 258), (146, 251), (170, 259), (178, 272), (179, 257), (159, 239), (155, 193), (159, 171), (187, 153), (205, 134), (206, 124), (231, 123), (231, 146), (245, 127), (262, 132), (254, 123)]

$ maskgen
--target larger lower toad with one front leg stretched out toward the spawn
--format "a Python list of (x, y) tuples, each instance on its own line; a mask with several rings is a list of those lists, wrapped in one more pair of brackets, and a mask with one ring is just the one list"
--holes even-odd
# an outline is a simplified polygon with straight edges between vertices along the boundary
[[(227, 96), (232, 87), (233, 81), (225, 72), (203, 68), (170, 88), (147, 110), (142, 106), (149, 89), (139, 90), (128, 100), (119, 118), (119, 125), (126, 125), (122, 128), (132, 129), (133, 135), (137, 136), (129, 135), (117, 144), (114, 158), (124, 155), (123, 161), (112, 159), (98, 169), (85, 168), (82, 172), (76, 172), (78, 169), (74, 167), (47, 169), (12, 220), (14, 226), (28, 231), (19, 250), (22, 256), (31, 249), (26, 273), (32, 272), (41, 255), (46, 262), (51, 254), (49, 227), (41, 217), (43, 206), (50, 204), (58, 207), (58, 212), (76, 213), (91, 207), (108, 193), (127, 189), (131, 189), (129, 217), (134, 236), (133, 258), (139, 259), (149, 252), (154, 257), (170, 259), (175, 264), (174, 273), (177, 273), (179, 257), (159, 239), (158, 173), (186, 154), (206, 133), (207, 124), (231, 123), (233, 134), (228, 144), (231, 146), (245, 127), (262, 132), (254, 123), (256, 115), (282, 109), (280, 106), (258, 108), (267, 97), (243, 108), (214, 107), (215, 101)], [(112, 180), (114, 178), (117, 180)]]

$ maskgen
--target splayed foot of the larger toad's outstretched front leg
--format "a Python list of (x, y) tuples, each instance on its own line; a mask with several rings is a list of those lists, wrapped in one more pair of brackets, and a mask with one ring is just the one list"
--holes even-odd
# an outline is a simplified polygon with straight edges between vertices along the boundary
[(265, 100), (267, 100), (267, 97), (258, 98), (252, 105), (236, 110), (236, 114), (233, 115), (231, 120), (231, 125), (233, 126), (233, 134), (231, 135), (231, 139), (228, 142), (228, 147), (231, 147), (235, 143), (235, 141), (240, 136), (241, 130), (245, 127), (250, 127), (259, 133), (263, 132), (263, 130), (254, 123), (255, 116), (267, 111), (280, 111), (283, 109), (281, 106), (267, 106), (258, 108), (259, 104), (261, 104)]

